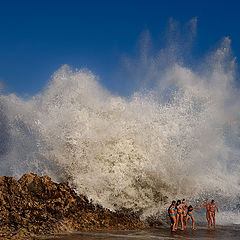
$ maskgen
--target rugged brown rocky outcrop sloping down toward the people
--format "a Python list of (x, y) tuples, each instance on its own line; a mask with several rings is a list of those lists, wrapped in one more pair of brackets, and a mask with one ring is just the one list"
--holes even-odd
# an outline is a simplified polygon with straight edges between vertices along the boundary
[(18, 181), (0, 178), (0, 239), (102, 229), (143, 229), (147, 223), (126, 211), (93, 205), (49, 176), (25, 174)]

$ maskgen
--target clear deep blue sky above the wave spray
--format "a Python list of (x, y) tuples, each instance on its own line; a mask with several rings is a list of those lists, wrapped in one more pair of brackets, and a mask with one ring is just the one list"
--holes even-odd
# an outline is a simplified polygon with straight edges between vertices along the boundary
[(0, 6), (0, 79), (8, 92), (31, 95), (69, 64), (124, 94), (116, 76), (121, 55), (133, 54), (143, 30), (161, 38), (170, 17), (181, 24), (198, 17), (196, 56), (224, 36), (240, 56), (237, 0), (9, 0)]

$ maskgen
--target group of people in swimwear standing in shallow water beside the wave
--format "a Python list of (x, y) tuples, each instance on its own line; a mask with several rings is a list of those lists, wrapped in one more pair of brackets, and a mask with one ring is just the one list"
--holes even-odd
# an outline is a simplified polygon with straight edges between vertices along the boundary
[(183, 199), (182, 201), (177, 200), (177, 202), (172, 201), (172, 204), (168, 208), (168, 214), (171, 219), (171, 231), (175, 232), (178, 229), (179, 222), (181, 223), (181, 230), (186, 229), (189, 218), (192, 220), (192, 229), (195, 230), (193, 210), (201, 209), (202, 207), (206, 207), (206, 219), (208, 221), (208, 228), (210, 228), (213, 224), (215, 229), (215, 208), (218, 212), (218, 206), (214, 200), (212, 200), (211, 203), (206, 200), (206, 202), (203, 203), (200, 207), (193, 207), (192, 205), (188, 206), (185, 199)]

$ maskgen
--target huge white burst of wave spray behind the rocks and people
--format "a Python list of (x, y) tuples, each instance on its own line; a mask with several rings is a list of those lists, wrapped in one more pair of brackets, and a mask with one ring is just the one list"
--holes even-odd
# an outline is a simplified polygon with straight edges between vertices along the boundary
[[(48, 174), (95, 203), (143, 218), (161, 214), (172, 199), (218, 198), (227, 223), (240, 224), (239, 90), (230, 40), (201, 71), (177, 58), (162, 64), (169, 54), (145, 56), (141, 69), (154, 84), (129, 97), (67, 65), (31, 99), (1, 95), (0, 174)], [(236, 218), (226, 217), (233, 209)]]

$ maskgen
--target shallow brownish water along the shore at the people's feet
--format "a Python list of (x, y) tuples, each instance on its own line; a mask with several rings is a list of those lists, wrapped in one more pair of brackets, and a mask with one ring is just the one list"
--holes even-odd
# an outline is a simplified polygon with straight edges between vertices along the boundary
[[(192, 231), (187, 229), (185, 231), (178, 231), (171, 233), (167, 228), (151, 229), (147, 231), (115, 231), (115, 232), (78, 232), (74, 234), (58, 235), (54, 237), (41, 238), (45, 240), (59, 239), (59, 240), (147, 240), (147, 239), (164, 239), (164, 240), (239, 240), (240, 226), (218, 226), (216, 230), (208, 230), (204, 227), (199, 227)], [(39, 239), (40, 240), (40, 239)]]

